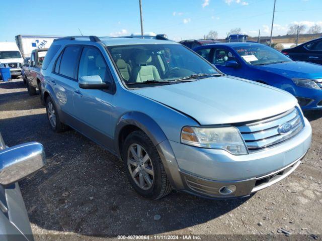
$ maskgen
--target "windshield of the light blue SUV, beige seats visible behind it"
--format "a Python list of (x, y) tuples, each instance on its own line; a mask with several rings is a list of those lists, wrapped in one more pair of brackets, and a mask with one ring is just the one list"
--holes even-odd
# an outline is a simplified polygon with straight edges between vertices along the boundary
[(214, 66), (179, 44), (115, 46), (108, 50), (126, 84), (218, 73)]

